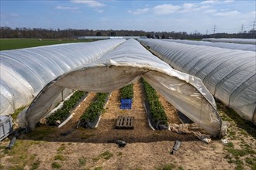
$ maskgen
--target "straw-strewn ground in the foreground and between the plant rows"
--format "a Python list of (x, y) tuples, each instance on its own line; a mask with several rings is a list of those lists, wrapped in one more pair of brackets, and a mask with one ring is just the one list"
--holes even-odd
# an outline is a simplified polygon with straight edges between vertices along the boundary
[[(140, 81), (134, 83), (133, 91), (131, 110), (120, 110), (119, 90), (112, 91), (98, 128), (74, 128), (95, 97), (89, 93), (62, 128), (40, 125), (20, 135), (10, 150), (5, 149), (9, 144), (6, 138), (0, 144), (0, 169), (256, 169), (256, 128), (234, 110), (217, 103), (223, 120), (230, 122), (229, 142), (213, 139), (206, 144), (192, 134), (150, 129)], [(169, 123), (180, 124), (175, 107), (163, 97), (160, 100)], [(134, 130), (115, 129), (120, 114), (135, 117)], [(67, 131), (72, 132), (61, 135)], [(127, 145), (119, 148), (113, 142), (116, 139)], [(171, 155), (176, 140), (182, 145)]]

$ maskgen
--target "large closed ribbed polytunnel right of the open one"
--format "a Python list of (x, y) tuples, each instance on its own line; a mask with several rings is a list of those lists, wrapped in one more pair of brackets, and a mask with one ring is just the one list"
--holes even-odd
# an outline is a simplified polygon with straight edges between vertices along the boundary
[(175, 70), (202, 80), (223, 104), (256, 124), (256, 54), (251, 51), (140, 39)]

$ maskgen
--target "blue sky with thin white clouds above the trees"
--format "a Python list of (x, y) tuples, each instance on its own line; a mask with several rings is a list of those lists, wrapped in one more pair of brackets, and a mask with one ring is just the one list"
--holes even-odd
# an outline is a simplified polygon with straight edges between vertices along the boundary
[(254, 0), (0, 0), (0, 24), (210, 34), (256, 29)]

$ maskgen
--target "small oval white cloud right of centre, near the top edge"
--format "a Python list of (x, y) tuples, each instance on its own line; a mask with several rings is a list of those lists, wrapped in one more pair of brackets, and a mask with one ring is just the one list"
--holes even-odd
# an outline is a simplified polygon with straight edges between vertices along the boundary
[(177, 12), (180, 8), (182, 7), (179, 5), (164, 4), (164, 5), (157, 5), (153, 9), (155, 14), (166, 15), (166, 14), (171, 14), (173, 12)]

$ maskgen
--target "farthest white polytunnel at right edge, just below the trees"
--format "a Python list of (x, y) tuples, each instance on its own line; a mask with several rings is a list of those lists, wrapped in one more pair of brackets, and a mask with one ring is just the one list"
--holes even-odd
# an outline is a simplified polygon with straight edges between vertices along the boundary
[(230, 42), (230, 43), (237, 43), (237, 44), (253, 44), (256, 45), (256, 39), (202, 39), (202, 41), (209, 41), (209, 42)]

